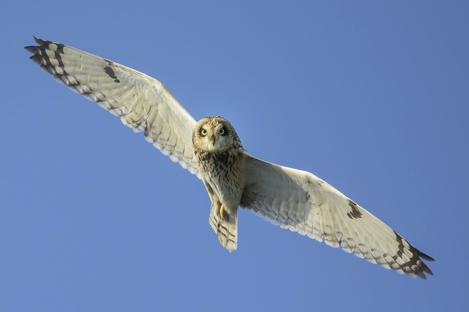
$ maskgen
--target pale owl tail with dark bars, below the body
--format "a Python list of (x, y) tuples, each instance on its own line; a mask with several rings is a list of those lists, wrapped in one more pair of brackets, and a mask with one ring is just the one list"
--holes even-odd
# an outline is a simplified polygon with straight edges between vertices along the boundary
[(217, 233), (220, 244), (231, 253), (238, 247), (238, 207), (226, 209), (220, 203), (212, 203), (209, 223)]

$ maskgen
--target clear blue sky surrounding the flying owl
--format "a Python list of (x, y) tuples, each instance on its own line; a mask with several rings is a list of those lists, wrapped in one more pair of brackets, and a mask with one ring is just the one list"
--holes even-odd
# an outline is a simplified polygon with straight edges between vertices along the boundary
[[(469, 3), (196, 2), (2, 4), (0, 310), (466, 310)], [(202, 182), (43, 73), (31, 35), (226, 117), (251, 155), (325, 179), (435, 276), (247, 211), (228, 253)]]

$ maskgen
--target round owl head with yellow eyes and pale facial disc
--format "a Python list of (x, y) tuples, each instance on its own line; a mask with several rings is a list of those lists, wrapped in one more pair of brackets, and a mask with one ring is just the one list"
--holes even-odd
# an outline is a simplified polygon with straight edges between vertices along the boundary
[(192, 132), (194, 147), (216, 152), (228, 149), (233, 144), (236, 132), (227, 119), (223, 117), (205, 117), (200, 119)]

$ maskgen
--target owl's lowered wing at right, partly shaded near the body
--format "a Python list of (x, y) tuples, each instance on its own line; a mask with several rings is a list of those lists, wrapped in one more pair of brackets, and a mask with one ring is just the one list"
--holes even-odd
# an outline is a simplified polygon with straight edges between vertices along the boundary
[(417, 250), (377, 217), (310, 172), (246, 156), (240, 206), (283, 229), (341, 247), (400, 274), (433, 275)]

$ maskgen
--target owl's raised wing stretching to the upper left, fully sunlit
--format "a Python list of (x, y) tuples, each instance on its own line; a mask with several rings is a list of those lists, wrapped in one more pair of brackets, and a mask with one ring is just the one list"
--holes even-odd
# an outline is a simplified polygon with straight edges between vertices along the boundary
[(98, 103), (200, 178), (192, 148), (196, 120), (158, 80), (90, 53), (34, 37), (30, 57), (58, 82)]

